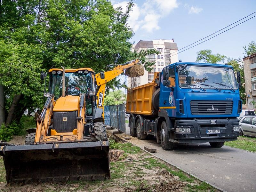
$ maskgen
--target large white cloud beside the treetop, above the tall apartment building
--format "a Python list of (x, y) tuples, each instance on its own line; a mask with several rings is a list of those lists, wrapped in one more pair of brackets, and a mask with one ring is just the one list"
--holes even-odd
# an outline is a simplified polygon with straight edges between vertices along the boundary
[[(112, 3), (114, 8), (122, 7), (122, 11), (126, 11), (128, 1), (117, 3), (113, 0)], [(134, 4), (127, 23), (133, 28), (134, 32), (141, 28), (145, 32), (151, 33), (154, 30), (160, 29), (158, 26), (159, 19), (167, 16), (177, 7), (178, 3), (176, 0), (146, 0), (141, 7), (138, 4)]]

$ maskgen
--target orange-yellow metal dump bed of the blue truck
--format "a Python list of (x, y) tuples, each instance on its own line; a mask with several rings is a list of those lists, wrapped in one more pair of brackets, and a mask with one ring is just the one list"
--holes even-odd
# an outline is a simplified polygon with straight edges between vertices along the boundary
[(148, 83), (127, 90), (126, 113), (153, 115), (152, 95), (156, 91), (156, 83)]

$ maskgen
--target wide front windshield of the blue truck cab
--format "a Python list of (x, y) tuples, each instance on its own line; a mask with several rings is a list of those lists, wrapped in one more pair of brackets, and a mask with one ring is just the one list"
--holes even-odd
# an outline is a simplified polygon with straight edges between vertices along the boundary
[(187, 66), (186, 69), (179, 71), (179, 85), (182, 88), (200, 89), (201, 87), (218, 91), (237, 89), (234, 71), (225, 67)]

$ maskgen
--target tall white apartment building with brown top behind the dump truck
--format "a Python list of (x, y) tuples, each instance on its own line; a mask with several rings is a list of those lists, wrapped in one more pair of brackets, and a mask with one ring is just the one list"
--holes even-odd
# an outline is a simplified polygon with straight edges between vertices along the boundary
[[(162, 69), (171, 63), (178, 62), (178, 47), (174, 43), (174, 39), (165, 40), (157, 39), (152, 41), (140, 40), (139, 43), (133, 46), (134, 50), (140, 52), (141, 49), (156, 49), (160, 53), (148, 55), (148, 61), (155, 61), (153, 70), (151, 72), (145, 71), (144, 76), (128, 78), (128, 87), (136, 87), (139, 85), (147, 84), (153, 81), (154, 72), (162, 71)], [(133, 51), (133, 50), (132, 50)]]

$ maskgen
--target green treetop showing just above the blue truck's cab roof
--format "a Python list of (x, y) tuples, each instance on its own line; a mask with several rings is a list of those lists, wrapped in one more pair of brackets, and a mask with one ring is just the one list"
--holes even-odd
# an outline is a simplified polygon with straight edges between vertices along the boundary
[(205, 62), (205, 63), (218, 63), (218, 62), (224, 62), (227, 58), (225, 55), (220, 55), (219, 53), (212, 54), (212, 51), (209, 49), (201, 50), (199, 52), (196, 52), (196, 62)]

